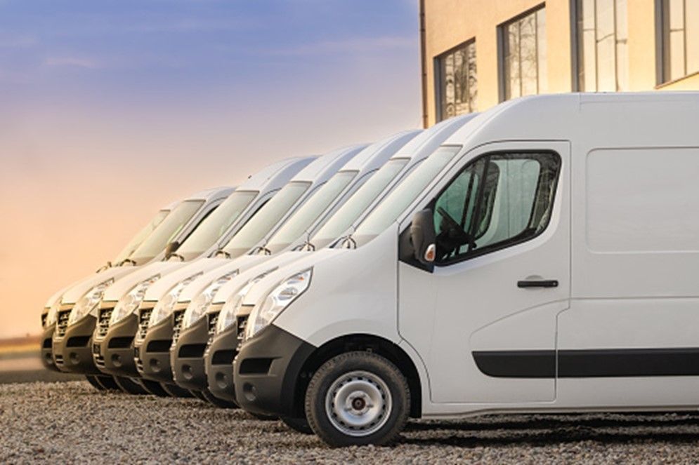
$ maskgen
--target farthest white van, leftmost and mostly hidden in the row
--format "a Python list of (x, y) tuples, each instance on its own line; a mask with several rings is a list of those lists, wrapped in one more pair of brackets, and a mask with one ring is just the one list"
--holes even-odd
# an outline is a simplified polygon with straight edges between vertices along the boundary
[[(166, 205), (166, 207), (161, 208), (160, 210), (157, 211), (154, 217), (148, 222), (148, 224), (145, 225), (141, 229), (141, 231), (138, 231), (136, 236), (133, 236), (131, 238), (131, 241), (124, 246), (124, 248), (119, 252), (115, 260), (112, 262), (107, 262), (103, 267), (100, 267), (97, 270), (97, 273), (100, 273), (101, 271), (105, 271), (107, 269), (110, 269), (112, 267), (121, 267), (123, 265), (130, 265), (127, 260), (131, 256), (131, 253), (133, 253), (136, 248), (138, 248), (138, 245), (141, 245), (145, 238), (147, 238), (150, 233), (158, 226), (158, 224), (162, 223), (162, 221), (165, 219), (167, 215), (171, 212), (171, 210), (177, 205), (177, 203), (171, 203), (170, 205)], [(41, 312), (41, 328), (43, 329), (43, 335), (41, 336), (41, 362), (44, 364), (44, 368), (47, 368), (48, 370), (53, 370), (53, 371), (58, 371), (58, 368), (55, 368), (55, 364), (53, 363), (53, 356), (52, 356), (52, 351), (51, 351), (51, 339), (53, 338), (53, 330), (55, 328), (55, 320), (56, 320), (56, 315), (58, 314), (58, 308), (60, 307), (60, 299), (63, 297), (63, 294), (69, 290), (73, 285), (76, 285), (77, 283), (73, 283), (72, 285), (67, 285), (65, 288), (58, 290), (55, 292), (51, 297), (49, 297), (48, 301), (46, 302), (46, 306), (44, 306), (44, 311)], [(93, 377), (88, 378), (89, 382), (93, 384), (98, 389), (102, 389), (103, 386), (98, 383), (96, 379)]]

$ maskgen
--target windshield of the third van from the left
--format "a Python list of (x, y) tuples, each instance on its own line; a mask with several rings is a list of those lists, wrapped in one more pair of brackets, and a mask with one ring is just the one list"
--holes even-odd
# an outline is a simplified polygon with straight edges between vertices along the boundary
[(190, 234), (177, 253), (185, 260), (202, 255), (226, 234), (228, 228), (242, 215), (257, 194), (258, 191), (234, 191)]

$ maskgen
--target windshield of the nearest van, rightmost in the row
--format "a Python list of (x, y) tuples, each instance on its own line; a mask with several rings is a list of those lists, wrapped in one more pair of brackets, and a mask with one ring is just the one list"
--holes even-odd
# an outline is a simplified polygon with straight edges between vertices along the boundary
[(374, 208), (372, 213), (367, 215), (357, 230), (353, 234), (357, 245), (364, 245), (375, 236), (381, 234), (391, 223), (396, 222), (405, 209), (415, 201), (434, 177), (443, 170), (454, 156), (459, 152), (461, 146), (440, 147), (422, 162), (405, 180), (388, 194), (384, 201)]

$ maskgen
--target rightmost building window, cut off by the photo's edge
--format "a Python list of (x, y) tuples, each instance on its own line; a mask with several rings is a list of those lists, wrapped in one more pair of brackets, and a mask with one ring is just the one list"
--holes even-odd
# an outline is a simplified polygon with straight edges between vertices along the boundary
[(662, 1), (662, 77), (699, 72), (699, 0)]

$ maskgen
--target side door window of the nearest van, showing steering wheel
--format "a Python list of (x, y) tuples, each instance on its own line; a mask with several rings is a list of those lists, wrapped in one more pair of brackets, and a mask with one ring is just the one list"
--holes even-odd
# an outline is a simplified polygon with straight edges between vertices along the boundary
[(560, 158), (490, 154), (469, 163), (433, 203), (437, 263), (528, 241), (547, 227)]

